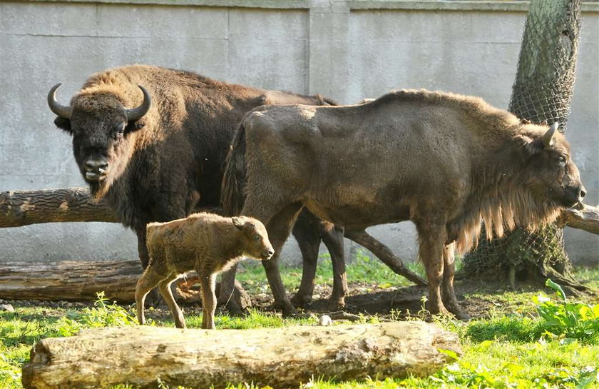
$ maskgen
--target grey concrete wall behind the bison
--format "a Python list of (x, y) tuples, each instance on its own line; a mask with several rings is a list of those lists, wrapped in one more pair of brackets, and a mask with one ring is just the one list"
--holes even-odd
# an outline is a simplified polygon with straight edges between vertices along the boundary
[[(70, 137), (53, 126), (46, 94), (63, 82), (59, 98), (66, 102), (89, 74), (124, 64), (319, 92), (342, 103), (426, 88), (506, 107), (527, 7), (523, 1), (3, 1), (0, 191), (85, 185)], [(599, 6), (583, 10), (568, 138), (587, 202), (597, 204)], [(415, 258), (411, 223), (372, 233), (401, 257)], [(111, 223), (3, 228), (0, 246), (0, 261), (136, 256), (134, 234)], [(597, 236), (568, 230), (566, 247), (574, 261), (598, 261)], [(299, 257), (294, 242), (284, 256)]]

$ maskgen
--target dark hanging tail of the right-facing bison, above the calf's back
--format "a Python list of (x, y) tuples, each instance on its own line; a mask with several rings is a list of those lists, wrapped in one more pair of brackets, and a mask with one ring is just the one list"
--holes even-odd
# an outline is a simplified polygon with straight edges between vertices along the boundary
[(222, 176), (220, 206), (226, 216), (241, 213), (245, 201), (245, 127), (241, 121), (235, 131), (233, 142), (225, 159), (225, 173)]

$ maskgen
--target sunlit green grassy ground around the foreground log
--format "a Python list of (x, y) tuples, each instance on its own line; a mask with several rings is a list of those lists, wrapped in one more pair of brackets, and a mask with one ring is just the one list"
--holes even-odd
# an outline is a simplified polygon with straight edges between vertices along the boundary
[[(417, 266), (415, 270), (418, 270)], [(404, 281), (396, 282), (399, 277), (367, 257), (354, 261), (347, 273), (352, 281), (352, 293), (367, 294), (407, 285)], [(299, 268), (285, 268), (282, 274), (290, 290), (297, 288), (301, 276)], [(576, 276), (591, 288), (599, 289), (599, 269), (578, 269)], [(246, 265), (239, 278), (250, 294), (267, 294), (261, 266)], [(332, 283), (329, 261), (320, 264), (317, 283)], [(458, 290), (464, 288), (458, 285)], [(551, 297), (548, 302), (543, 297), (539, 300), (539, 291), (533, 288), (506, 292), (496, 286), (489, 288), (477, 284), (466, 290), (464, 302), (482, 307), (483, 315), (468, 323), (436, 319), (439, 325), (458, 333), (461, 338), (464, 354), (456, 363), (428, 378), (373, 378), (341, 383), (315, 380), (304, 388), (599, 388), (599, 305), (595, 305), (598, 303), (596, 297), (584, 298), (580, 305), (570, 303), (566, 306), (559, 303), (559, 295), (551, 289), (546, 290)], [(31, 346), (41, 338), (69, 336), (81, 328), (136, 325), (131, 316), (133, 307), (121, 307), (105, 300), (98, 300), (95, 305), (12, 303), (14, 313), (0, 312), (0, 388), (3, 389), (21, 388), (21, 366), (29, 360)], [(538, 307), (544, 307), (549, 321), (539, 317)], [(572, 312), (561, 312), (564, 307), (572, 308)], [(188, 327), (199, 328), (199, 311), (190, 307), (186, 311)], [(153, 318), (153, 325), (173, 325), (170, 315), (161, 310), (150, 311), (148, 315)], [(363, 320), (377, 322), (400, 316), (399, 311), (391, 310), (379, 315), (365, 315)], [(552, 326), (551, 320), (559, 318), (578, 318), (578, 321)], [(217, 328), (280, 327), (297, 323), (315, 324), (316, 319), (284, 320), (270, 311), (253, 310), (246, 318), (219, 315), (216, 321)], [(576, 332), (573, 328), (583, 330)], [(160, 383), (157, 387), (168, 388)], [(119, 385), (115, 389), (125, 388), (128, 387)], [(252, 388), (252, 385), (231, 385), (230, 388)]]

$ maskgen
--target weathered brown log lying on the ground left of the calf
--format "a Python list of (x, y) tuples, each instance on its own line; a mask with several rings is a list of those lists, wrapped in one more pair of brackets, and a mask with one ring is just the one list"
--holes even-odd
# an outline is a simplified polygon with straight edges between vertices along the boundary
[(139, 261), (0, 263), (0, 298), (93, 301), (96, 293), (121, 303), (135, 301)]

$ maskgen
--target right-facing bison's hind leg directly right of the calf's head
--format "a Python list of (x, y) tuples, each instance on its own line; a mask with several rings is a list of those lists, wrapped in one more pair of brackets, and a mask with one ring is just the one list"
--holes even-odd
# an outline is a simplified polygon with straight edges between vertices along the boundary
[[(262, 261), (262, 265), (265, 268), (272, 295), (275, 297), (274, 306), (275, 308), (280, 308), (282, 310), (283, 317), (297, 315), (297, 311), (293, 307), (293, 304), (289, 298), (287, 298), (285, 286), (283, 286), (283, 281), (281, 280), (279, 256), (285, 241), (287, 241), (287, 238), (291, 233), (300, 209), (302, 209), (301, 203), (293, 203), (286, 206), (270, 219), (266, 228), (270, 243), (272, 244), (272, 247), (275, 248), (275, 256), (273, 256), (270, 261)], [(258, 218), (258, 220), (262, 219)]]

